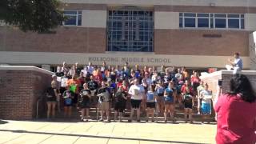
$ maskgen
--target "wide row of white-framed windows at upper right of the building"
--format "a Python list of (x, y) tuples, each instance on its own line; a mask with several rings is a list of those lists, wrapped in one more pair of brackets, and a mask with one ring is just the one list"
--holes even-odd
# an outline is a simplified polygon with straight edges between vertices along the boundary
[(179, 27), (244, 29), (244, 14), (180, 13)]

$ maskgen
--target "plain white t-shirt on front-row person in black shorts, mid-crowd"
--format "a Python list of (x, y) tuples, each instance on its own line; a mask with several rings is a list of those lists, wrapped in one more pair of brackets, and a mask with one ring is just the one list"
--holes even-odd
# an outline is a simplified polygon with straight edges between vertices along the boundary
[(142, 85), (132, 85), (128, 93), (131, 95), (131, 99), (141, 100), (145, 90)]

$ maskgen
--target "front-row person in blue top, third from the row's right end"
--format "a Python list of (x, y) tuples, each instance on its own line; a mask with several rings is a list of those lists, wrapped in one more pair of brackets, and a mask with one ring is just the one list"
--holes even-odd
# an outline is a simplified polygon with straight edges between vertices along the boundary
[(170, 118), (172, 119), (172, 121), (174, 122), (174, 104), (175, 104), (175, 100), (176, 100), (176, 94), (177, 94), (177, 90), (174, 88), (174, 82), (170, 81), (166, 90), (165, 90), (165, 122), (167, 122), (167, 115), (170, 113)]

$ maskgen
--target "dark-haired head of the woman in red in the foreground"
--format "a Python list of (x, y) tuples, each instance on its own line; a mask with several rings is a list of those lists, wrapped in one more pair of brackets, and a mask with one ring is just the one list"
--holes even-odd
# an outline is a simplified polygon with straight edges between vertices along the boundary
[(230, 94), (240, 94), (245, 102), (255, 102), (256, 95), (246, 75), (235, 74), (230, 79)]

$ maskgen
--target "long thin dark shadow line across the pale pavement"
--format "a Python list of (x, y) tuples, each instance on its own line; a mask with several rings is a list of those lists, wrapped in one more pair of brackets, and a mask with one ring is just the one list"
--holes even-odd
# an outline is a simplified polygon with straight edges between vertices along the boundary
[(26, 130), (0, 130), (0, 131), (13, 132), (13, 133), (26, 133), (26, 134), (51, 134), (51, 135), (87, 137), (87, 138), (110, 138), (110, 139), (122, 139), (122, 140), (145, 141), (145, 142), (169, 142), (169, 143), (174, 142), (174, 143), (198, 144), (198, 142), (195, 143), (195, 142), (166, 141), (166, 140), (146, 139), (146, 138), (122, 138), (122, 137), (109, 137), (109, 136), (85, 135), (85, 134), (61, 134), (61, 133), (37, 132), (37, 131), (26, 131)]

